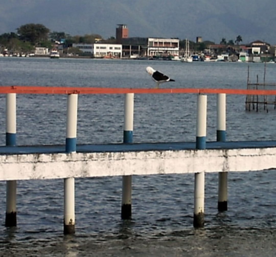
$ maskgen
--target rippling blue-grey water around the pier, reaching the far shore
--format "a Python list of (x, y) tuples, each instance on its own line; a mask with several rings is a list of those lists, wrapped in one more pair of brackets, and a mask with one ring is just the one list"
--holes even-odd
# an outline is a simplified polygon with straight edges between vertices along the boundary
[[(0, 58), (0, 85), (151, 88), (152, 66), (176, 82), (161, 87), (245, 89), (248, 64)], [(267, 64), (266, 81), (275, 82)], [(250, 64), (250, 80), (263, 76)], [(4, 114), (5, 98), (0, 96)], [(122, 142), (122, 95), (80, 95), (78, 143)], [(134, 141), (194, 141), (196, 95), (135, 95)], [(275, 140), (276, 111), (245, 111), (227, 96), (227, 140)], [(17, 95), (17, 143), (64, 144), (66, 96)], [(207, 138), (216, 140), (216, 96), (208, 95)], [(5, 144), (5, 115), (0, 117)], [(193, 175), (134, 176), (131, 221), (120, 219), (121, 177), (76, 179), (76, 234), (63, 236), (63, 180), (18, 181), (18, 226), (4, 227), (0, 256), (274, 256), (275, 170), (229, 173), (229, 211), (217, 212), (217, 174), (206, 174), (205, 228), (193, 223)]]

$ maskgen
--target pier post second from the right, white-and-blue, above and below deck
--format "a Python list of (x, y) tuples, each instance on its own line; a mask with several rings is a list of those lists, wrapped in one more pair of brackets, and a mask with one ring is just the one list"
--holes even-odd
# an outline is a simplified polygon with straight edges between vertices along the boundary
[[(196, 149), (206, 148), (207, 95), (197, 97)], [(204, 227), (205, 173), (195, 173), (193, 226)]]

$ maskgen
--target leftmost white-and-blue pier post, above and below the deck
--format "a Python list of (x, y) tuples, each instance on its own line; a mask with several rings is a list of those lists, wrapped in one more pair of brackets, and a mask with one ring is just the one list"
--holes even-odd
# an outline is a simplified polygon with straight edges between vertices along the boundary
[[(16, 94), (6, 94), (6, 146), (16, 145)], [(16, 180), (6, 184), (6, 227), (16, 226)]]

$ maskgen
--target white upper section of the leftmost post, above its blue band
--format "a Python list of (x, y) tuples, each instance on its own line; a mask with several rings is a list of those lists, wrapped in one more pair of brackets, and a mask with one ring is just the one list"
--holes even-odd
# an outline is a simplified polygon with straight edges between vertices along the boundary
[(6, 94), (6, 132), (16, 133), (16, 94)]

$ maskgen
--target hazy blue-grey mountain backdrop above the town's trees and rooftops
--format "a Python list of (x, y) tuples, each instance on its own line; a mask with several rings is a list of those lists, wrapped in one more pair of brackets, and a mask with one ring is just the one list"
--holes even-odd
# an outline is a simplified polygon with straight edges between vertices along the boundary
[(115, 36), (127, 24), (129, 37), (196, 37), (219, 43), (242, 38), (276, 44), (275, 0), (0, 0), (0, 34), (27, 23), (70, 35)]

